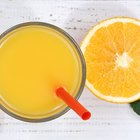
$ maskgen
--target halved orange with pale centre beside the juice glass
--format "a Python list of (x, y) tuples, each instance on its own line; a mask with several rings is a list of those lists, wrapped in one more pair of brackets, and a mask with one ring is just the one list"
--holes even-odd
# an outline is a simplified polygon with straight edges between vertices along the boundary
[(140, 20), (115, 17), (94, 26), (81, 45), (86, 86), (115, 103), (140, 99)]

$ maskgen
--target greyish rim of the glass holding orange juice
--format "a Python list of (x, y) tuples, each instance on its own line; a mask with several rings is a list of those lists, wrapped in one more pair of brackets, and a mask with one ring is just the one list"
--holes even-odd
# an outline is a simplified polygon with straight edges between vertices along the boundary
[[(85, 81), (86, 81), (86, 63), (85, 63), (85, 59), (83, 56), (83, 53), (80, 49), (80, 46), (77, 44), (77, 42), (63, 29), (52, 25), (50, 23), (46, 23), (46, 22), (24, 22), (24, 23), (20, 23), (17, 24), (15, 26), (10, 27), (9, 29), (7, 29), (6, 31), (4, 31), (1, 35), (0, 35), (0, 39), (2, 39), (3, 37), (5, 37), (8, 33), (14, 31), (15, 29), (21, 28), (21, 27), (25, 27), (25, 26), (30, 26), (30, 25), (40, 25), (40, 26), (45, 26), (45, 27), (50, 27), (51, 29), (54, 29), (56, 31), (58, 31), (59, 33), (63, 34), (72, 44), (73, 47), (76, 49), (76, 52), (78, 53), (80, 62), (81, 62), (81, 67), (82, 67), (82, 78), (81, 78), (81, 83), (80, 83), (80, 87), (78, 89), (78, 92), (76, 93), (76, 96), (74, 97), (76, 100), (79, 99), (79, 97), (82, 94), (82, 91), (84, 89), (85, 86)], [(39, 118), (39, 119), (31, 119), (31, 118), (25, 118), (22, 116), (19, 116), (11, 111), (9, 111), (6, 107), (4, 107), (2, 104), (0, 104), (0, 109), (3, 110), (6, 114), (10, 115), (13, 118), (16, 118), (18, 120), (21, 121), (25, 121), (25, 122), (47, 122), (47, 121), (51, 121), (54, 120), (56, 118), (59, 118), (60, 116), (64, 115), (66, 112), (68, 112), (70, 110), (70, 107), (67, 106), (65, 109), (63, 109), (62, 111), (46, 117), (46, 118)]]

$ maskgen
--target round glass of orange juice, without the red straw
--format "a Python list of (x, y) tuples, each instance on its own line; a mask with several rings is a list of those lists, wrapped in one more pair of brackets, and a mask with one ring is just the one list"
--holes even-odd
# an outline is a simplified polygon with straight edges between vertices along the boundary
[(78, 99), (85, 77), (79, 46), (54, 25), (22, 23), (0, 36), (0, 108), (14, 118), (42, 122), (63, 115), (69, 107), (56, 88)]

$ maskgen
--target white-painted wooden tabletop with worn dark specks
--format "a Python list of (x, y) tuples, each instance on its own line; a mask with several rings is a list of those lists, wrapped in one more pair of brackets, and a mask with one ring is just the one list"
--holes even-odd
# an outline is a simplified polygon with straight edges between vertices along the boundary
[[(140, 19), (140, 1), (0, 0), (0, 33), (18, 23), (42, 21), (61, 27), (80, 44), (91, 26), (112, 16)], [(140, 117), (129, 105), (101, 101), (87, 89), (80, 101), (93, 113), (91, 120), (81, 121), (69, 111), (54, 121), (33, 124), (0, 111), (0, 140), (140, 139)]]

